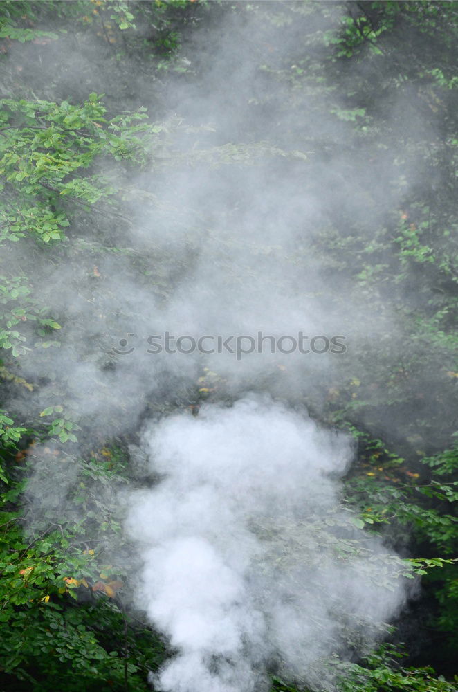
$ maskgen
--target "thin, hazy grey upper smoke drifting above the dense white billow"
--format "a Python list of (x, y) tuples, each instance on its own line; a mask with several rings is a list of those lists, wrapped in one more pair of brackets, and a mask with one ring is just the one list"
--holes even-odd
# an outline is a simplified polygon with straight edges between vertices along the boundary
[[(341, 10), (330, 11), (337, 22)], [(381, 156), (368, 170), (369, 151), (356, 156), (347, 147), (351, 124), (333, 116), (327, 99), (307, 98), (304, 108), (285, 109), (294, 82), (276, 79), (275, 71), (293, 69), (302, 43), (291, 18), (278, 34), (276, 12), (275, 6), (253, 13), (239, 5), (210, 22), (209, 30), (191, 33), (183, 47), (190, 72), (185, 78), (167, 75), (161, 93), (161, 114), (170, 116), (163, 151), (159, 146), (150, 170), (122, 180), (123, 215), (130, 223), (113, 223), (109, 212), (107, 219), (86, 219), (78, 239), (68, 234), (64, 261), (50, 268), (47, 257), (33, 258), (36, 291), (64, 325), (52, 360), (36, 351), (24, 358), (26, 376), (49, 381), (38, 406), (46, 406), (58, 379), (75, 417), (89, 428), (122, 432), (135, 426), (164, 378), (193, 385), (206, 366), (230, 392), (267, 389), (297, 401), (313, 392), (320, 408), (327, 397), (323, 383), (345, 379), (352, 349), (361, 352), (363, 343), (374, 346), (397, 333), (390, 301), (383, 313), (368, 309), (365, 295), (355, 291), (355, 277), (335, 271), (336, 260), (324, 264), (320, 237), (338, 234), (340, 219), (351, 217), (363, 228), (368, 217), (371, 224), (383, 219), (402, 192), (390, 187), (393, 170), (383, 170)], [(329, 26), (320, 12), (307, 19), (311, 35), (321, 24)], [(304, 50), (320, 59), (322, 48)], [(89, 62), (82, 48), (67, 45), (60, 57), (59, 89), (67, 98), (68, 75), (75, 66), (86, 75)], [(99, 62), (95, 82), (107, 78)], [(145, 93), (151, 107), (149, 86), (143, 86), (136, 100)], [(118, 85), (123, 89), (124, 82)], [(115, 84), (111, 91), (114, 107)], [(389, 127), (404, 125), (394, 118)], [(363, 190), (367, 176), (374, 180), (372, 197)], [(125, 252), (106, 249), (117, 246)], [(12, 264), (20, 265), (22, 255), (11, 255)], [(146, 348), (129, 357), (113, 354), (128, 334), (146, 344), (147, 336), (165, 331), (195, 338), (258, 331), (342, 334), (349, 353), (264, 349), (239, 363), (230, 354), (161, 357)]]

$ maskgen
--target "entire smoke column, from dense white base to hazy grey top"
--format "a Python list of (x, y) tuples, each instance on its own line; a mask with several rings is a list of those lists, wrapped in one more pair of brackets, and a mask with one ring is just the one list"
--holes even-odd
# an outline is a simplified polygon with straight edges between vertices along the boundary
[[(334, 4), (329, 12), (338, 21)], [(320, 237), (338, 237), (340, 222), (351, 218), (367, 228), (369, 242), (368, 217), (383, 224), (405, 189), (392, 185), (397, 164), (385, 153), (393, 154), (392, 140), (374, 159), (369, 143), (357, 153), (348, 145), (351, 124), (332, 115), (327, 98), (312, 93), (292, 114), (284, 107), (286, 95), (289, 103), (300, 98), (295, 82), (272, 75), (286, 66), (294, 74), (300, 31), (291, 21), (280, 40), (265, 13), (239, 7), (185, 44), (190, 75), (170, 77), (161, 92), (166, 153), (126, 176), (121, 203), (129, 224), (94, 221), (105, 249), (125, 252), (95, 242), (88, 251), (69, 233), (66, 257), (51, 268), (43, 255), (33, 257), (37, 293), (64, 326), (62, 345), (52, 358), (24, 357), (24, 376), (42, 385), (12, 406), (32, 415), (58, 386), (89, 446), (95, 435), (130, 432), (146, 419), (147, 470), (160, 480), (122, 500), (143, 563), (136, 603), (176, 651), (152, 678), (162, 692), (250, 692), (266, 688), (267, 670), (331, 686), (322, 659), (365, 650), (405, 600), (390, 572), (394, 555), (351, 524), (342, 502), (349, 440), (294, 408), (313, 397), (320, 410), (329, 383), (344, 381), (354, 363), (352, 346), (398, 336), (390, 296), (374, 314), (354, 273), (342, 273), (336, 257), (324, 263)], [(312, 13), (310, 33), (322, 23), (328, 27), (329, 17)], [(84, 50), (60, 50), (73, 84), (75, 66), (88, 69)], [(320, 48), (307, 50), (320, 59)], [(331, 86), (333, 105), (343, 107), (344, 84)], [(60, 88), (71, 89), (63, 78)], [(138, 77), (132, 98), (154, 106), (150, 91)], [(401, 98), (383, 116), (392, 138), (407, 127), (399, 118), (404, 106)], [(410, 165), (416, 181), (418, 161)], [(86, 224), (78, 230), (92, 242)], [(19, 254), (10, 256), (15, 266)], [(266, 349), (241, 361), (151, 355), (146, 347), (113, 353), (127, 334), (145, 343), (165, 331), (342, 334), (348, 352)], [(152, 419), (152, 401), (195, 390), (203, 367), (218, 376), (217, 397), (235, 403)], [(56, 463), (56, 477), (63, 473)], [(51, 502), (49, 478), (37, 473), (33, 502), (61, 511), (72, 478), (55, 484)]]

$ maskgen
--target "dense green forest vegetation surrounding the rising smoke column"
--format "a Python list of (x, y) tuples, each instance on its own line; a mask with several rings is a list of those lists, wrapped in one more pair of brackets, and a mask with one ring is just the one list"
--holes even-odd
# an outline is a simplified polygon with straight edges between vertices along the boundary
[[(199, 83), (215, 49), (212, 30), (244, 14), (259, 26), (249, 51), (259, 56), (264, 89), (253, 93), (253, 120), (239, 141), (207, 140), (208, 122), (183, 122), (179, 103), (170, 117), (167, 85)], [(370, 304), (368, 331), (378, 338), (356, 340), (345, 367), (315, 382), (303, 401), (356, 440), (357, 462), (345, 479), (352, 521), (383, 534), (405, 556), (400, 570), (421, 577), (388, 643), (354, 662), (336, 655), (326, 665), (342, 692), (455, 689), (457, 19), (457, 3), (431, 1), (1, 3), (2, 691), (149, 689), (148, 671), (170, 652), (131, 602), (138, 565), (116, 492), (140, 481), (129, 445), (143, 416), (226, 396), (208, 370), (181, 388), (166, 381), (154, 401), (147, 390), (138, 397), (137, 388), (111, 400), (96, 381), (89, 408), (105, 408), (94, 423), (84, 402), (68, 394), (53, 354), (61, 352), (62, 363), (84, 343), (91, 364), (102, 349), (102, 367), (115, 377), (125, 366), (107, 343), (128, 316), (108, 316), (93, 343), (83, 341), (71, 310), (49, 307), (57, 304), (53, 291), (64, 291), (68, 274), (59, 268), (75, 271), (77, 298), (93, 302), (94, 313), (104, 311), (100, 285), (113, 291), (100, 269), (112, 257), (122, 257), (139, 290), (152, 282), (167, 300), (196, 248), (187, 247), (189, 257), (177, 257), (176, 275), (167, 276), (169, 250), (131, 243), (135, 206), (156, 203), (154, 187), (132, 179), (185, 160), (195, 170), (227, 167), (241, 175), (259, 161), (280, 160), (301, 178), (309, 159), (343, 161), (327, 181), (332, 187), (348, 176), (358, 203), (336, 194), (312, 244), (299, 241), (290, 259), (304, 271), (320, 262), (334, 303)], [(190, 64), (187, 48), (205, 37), (206, 52)], [(264, 62), (265, 45), (288, 42), (293, 64), (275, 50)], [(80, 63), (73, 64), (75, 55)], [(393, 127), (394, 108), (405, 126)], [(327, 137), (301, 131), (304, 111), (345, 130)], [(270, 120), (278, 125), (266, 140)], [(178, 150), (177, 138), (190, 143), (187, 151)], [(374, 186), (369, 164), (389, 185)], [(313, 180), (306, 185), (318, 194)], [(398, 320), (393, 332), (387, 304)], [(121, 424), (127, 410), (135, 415)], [(70, 479), (64, 510), (53, 504), (56, 458)], [(300, 687), (275, 677), (272, 684)]]

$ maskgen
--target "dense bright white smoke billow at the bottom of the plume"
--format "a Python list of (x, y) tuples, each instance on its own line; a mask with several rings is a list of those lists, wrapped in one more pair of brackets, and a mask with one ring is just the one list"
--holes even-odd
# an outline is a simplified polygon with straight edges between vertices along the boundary
[(138, 602), (177, 651), (156, 689), (264, 689), (273, 662), (313, 682), (321, 657), (374, 641), (400, 607), (401, 585), (377, 578), (387, 552), (340, 503), (345, 436), (251, 395), (149, 425), (144, 443), (161, 480), (130, 498)]

